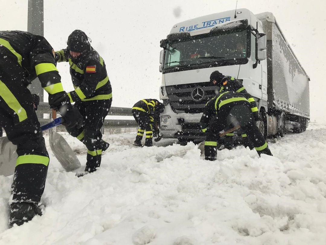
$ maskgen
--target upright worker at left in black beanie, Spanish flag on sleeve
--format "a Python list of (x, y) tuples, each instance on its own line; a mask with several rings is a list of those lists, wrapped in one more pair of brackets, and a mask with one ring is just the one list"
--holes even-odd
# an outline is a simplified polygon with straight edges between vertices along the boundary
[(91, 46), (87, 35), (74, 30), (68, 37), (67, 48), (55, 52), (58, 62), (70, 65), (70, 75), (75, 90), (68, 93), (84, 118), (82, 128), (67, 128), (73, 137), (87, 147), (85, 173), (95, 172), (101, 164), (102, 151), (109, 143), (102, 140), (101, 127), (112, 103), (112, 88), (103, 58)]

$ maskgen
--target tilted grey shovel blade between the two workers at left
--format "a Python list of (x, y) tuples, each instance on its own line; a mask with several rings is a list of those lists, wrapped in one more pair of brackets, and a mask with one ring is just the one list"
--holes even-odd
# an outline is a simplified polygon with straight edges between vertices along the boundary
[(50, 132), (50, 147), (61, 166), (67, 171), (74, 171), (81, 167), (75, 152), (67, 141), (58, 133)]

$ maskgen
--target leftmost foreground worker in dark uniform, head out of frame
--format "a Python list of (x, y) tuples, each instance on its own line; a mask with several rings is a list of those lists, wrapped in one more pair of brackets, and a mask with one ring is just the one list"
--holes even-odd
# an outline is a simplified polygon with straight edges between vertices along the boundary
[(71, 106), (63, 90), (54, 51), (44, 37), (23, 31), (0, 31), (0, 57), (0, 127), (17, 145), (18, 155), (11, 187), (9, 227), (12, 227), (41, 214), (37, 204), (49, 165), (34, 108), (37, 102), (27, 86), (38, 77), (49, 94), (50, 106), (60, 111), (67, 127), (81, 127), (82, 116)]

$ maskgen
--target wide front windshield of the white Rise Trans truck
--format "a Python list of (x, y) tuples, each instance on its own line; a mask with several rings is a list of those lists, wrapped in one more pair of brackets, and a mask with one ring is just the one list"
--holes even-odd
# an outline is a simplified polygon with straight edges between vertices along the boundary
[[(165, 51), (164, 67), (196, 67), (226, 60), (232, 61), (247, 57), (247, 30), (222, 33), (216, 36), (193, 37), (187, 41), (170, 43)], [(250, 54), (250, 53), (249, 53)], [(194, 69), (194, 68), (190, 68)]]

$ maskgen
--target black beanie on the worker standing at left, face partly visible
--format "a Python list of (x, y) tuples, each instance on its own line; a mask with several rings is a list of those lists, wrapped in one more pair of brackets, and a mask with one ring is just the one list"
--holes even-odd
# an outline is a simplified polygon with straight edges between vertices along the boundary
[(88, 37), (85, 32), (81, 30), (74, 30), (69, 35), (67, 44), (69, 51), (85, 53), (85, 51), (91, 50), (91, 44), (88, 41)]

